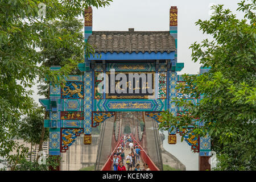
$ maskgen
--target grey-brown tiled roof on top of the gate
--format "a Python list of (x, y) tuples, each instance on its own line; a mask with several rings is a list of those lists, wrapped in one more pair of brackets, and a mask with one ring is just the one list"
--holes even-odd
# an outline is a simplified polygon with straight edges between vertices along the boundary
[(175, 40), (169, 31), (93, 31), (88, 43), (96, 52), (173, 52)]

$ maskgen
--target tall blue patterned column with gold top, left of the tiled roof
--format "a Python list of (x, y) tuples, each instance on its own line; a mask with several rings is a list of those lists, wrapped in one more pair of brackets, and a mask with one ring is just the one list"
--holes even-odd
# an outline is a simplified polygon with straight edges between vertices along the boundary
[[(85, 9), (84, 13), (84, 41), (87, 42), (89, 36), (92, 35), (92, 7)], [(92, 141), (92, 69), (90, 69), (90, 61), (86, 57), (84, 61), (84, 143), (90, 144)]]

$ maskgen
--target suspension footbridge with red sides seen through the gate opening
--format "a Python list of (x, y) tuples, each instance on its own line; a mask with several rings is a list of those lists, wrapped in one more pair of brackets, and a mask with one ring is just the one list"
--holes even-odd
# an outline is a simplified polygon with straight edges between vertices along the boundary
[[(121, 144), (127, 126), (131, 129), (133, 143), (141, 149), (141, 169), (143, 163), (147, 163), (151, 171), (163, 170), (158, 124), (145, 112), (116, 112), (115, 117), (102, 123), (95, 170), (113, 170), (114, 150)], [(125, 157), (128, 154), (129, 151), (125, 150)]]

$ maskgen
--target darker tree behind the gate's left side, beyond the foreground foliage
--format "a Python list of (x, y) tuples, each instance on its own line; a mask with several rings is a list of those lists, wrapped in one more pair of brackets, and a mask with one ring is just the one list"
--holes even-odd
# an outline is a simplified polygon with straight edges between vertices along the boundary
[[(69, 18), (67, 20), (56, 20), (52, 23), (54, 25), (54, 32), (61, 39), (66, 40), (68, 46), (59, 47), (52, 49), (54, 43), (42, 43), (40, 44), (40, 60), (45, 67), (51, 67), (52, 65), (59, 65), (64, 67), (69, 64), (70, 60), (75, 60), (75, 64), (69, 72), (69, 75), (81, 75), (82, 73), (77, 68), (77, 63), (84, 61), (84, 35), (82, 28), (84, 24), (82, 20), (75, 17)], [(89, 45), (87, 44), (86, 47)], [(93, 52), (93, 49), (92, 53)], [(45, 80), (43, 77), (40, 79), (40, 84), (38, 86), (38, 94), (49, 98), (49, 81)], [(45, 112), (44, 118), (47, 119), (48, 113)], [(45, 134), (45, 128), (43, 127), (39, 142), (39, 150), (43, 147), (43, 138)], [(39, 156), (38, 156), (39, 158)]]

